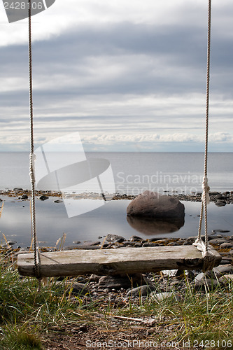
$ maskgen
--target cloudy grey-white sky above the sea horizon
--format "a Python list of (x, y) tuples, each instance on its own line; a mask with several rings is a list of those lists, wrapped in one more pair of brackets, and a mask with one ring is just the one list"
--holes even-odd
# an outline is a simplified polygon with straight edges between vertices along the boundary
[[(56, 0), (32, 22), (35, 147), (202, 152), (207, 0)], [(209, 151), (233, 152), (233, 1), (212, 1)], [(0, 151), (29, 151), (28, 20), (0, 3)]]

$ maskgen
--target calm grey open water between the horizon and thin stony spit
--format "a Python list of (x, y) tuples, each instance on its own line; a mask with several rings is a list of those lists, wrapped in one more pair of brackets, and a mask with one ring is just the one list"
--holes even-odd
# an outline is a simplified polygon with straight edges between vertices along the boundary
[[(118, 193), (202, 190), (202, 153), (86, 153), (86, 157), (109, 160)], [(74, 156), (73, 162), (77, 161)], [(0, 153), (0, 165), (0, 190), (30, 188), (27, 153)], [(208, 171), (211, 190), (233, 190), (233, 153), (210, 153)]]

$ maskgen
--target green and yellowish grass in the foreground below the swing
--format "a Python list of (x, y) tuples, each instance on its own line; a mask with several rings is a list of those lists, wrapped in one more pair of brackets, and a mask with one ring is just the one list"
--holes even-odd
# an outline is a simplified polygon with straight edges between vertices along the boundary
[[(91, 299), (87, 305), (81, 295), (76, 296), (76, 303), (73, 303), (69, 279), (64, 279), (59, 285), (56, 279), (51, 279), (48, 286), (38, 293), (36, 279), (19, 276), (13, 256), (6, 257), (2, 253), (1, 257), (0, 349), (43, 349), (41, 337), (45, 337), (52, 326), (72, 322), (98, 324), (97, 314), (102, 314), (108, 330), (111, 329), (113, 315), (147, 317), (155, 320), (156, 327), (152, 326), (155, 332), (150, 337), (157, 341), (198, 342), (202, 345), (209, 342), (210, 349), (233, 349), (232, 282), (224, 288), (219, 285), (200, 293), (186, 279), (185, 295), (180, 300), (167, 297), (157, 302), (150, 297), (146, 300), (139, 297), (122, 304), (111, 303), (108, 297), (104, 297), (101, 300)], [(157, 293), (160, 293), (159, 283), (157, 288)], [(177, 294), (178, 290), (173, 292)], [(219, 346), (211, 346), (213, 342)]]

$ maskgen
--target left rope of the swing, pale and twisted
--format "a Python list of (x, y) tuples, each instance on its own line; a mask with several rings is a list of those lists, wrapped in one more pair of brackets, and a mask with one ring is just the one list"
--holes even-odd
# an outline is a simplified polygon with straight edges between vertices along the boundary
[(29, 18), (29, 105), (30, 105), (30, 165), (29, 175), (31, 180), (31, 226), (34, 247), (34, 272), (38, 279), (38, 290), (41, 289), (41, 272), (39, 263), (39, 252), (36, 246), (36, 207), (35, 207), (35, 155), (34, 155), (34, 125), (33, 125), (33, 100), (32, 100), (32, 60), (31, 60), (31, 0), (28, 0)]

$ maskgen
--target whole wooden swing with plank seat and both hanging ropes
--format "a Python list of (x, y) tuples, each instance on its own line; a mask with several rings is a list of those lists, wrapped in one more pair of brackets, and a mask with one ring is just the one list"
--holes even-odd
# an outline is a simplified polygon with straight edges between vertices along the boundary
[[(202, 269), (204, 272), (218, 266), (221, 256), (208, 244), (207, 204), (209, 203), (209, 186), (207, 179), (207, 153), (209, 129), (209, 77), (210, 77), (210, 43), (211, 43), (211, 0), (209, 0), (208, 49), (207, 49), (207, 85), (206, 85), (206, 141), (204, 156), (204, 178), (202, 207), (197, 240), (191, 246), (157, 246), (141, 248), (99, 249), (87, 251), (54, 251), (41, 253), (36, 244), (36, 210), (34, 178), (34, 132), (32, 106), (31, 74), (31, 0), (29, 0), (29, 98), (31, 123), (31, 207), (34, 253), (18, 255), (18, 272), (23, 276), (77, 276), (79, 274), (133, 274), (160, 271), (162, 269)], [(202, 219), (205, 221), (205, 241), (201, 239)]]

